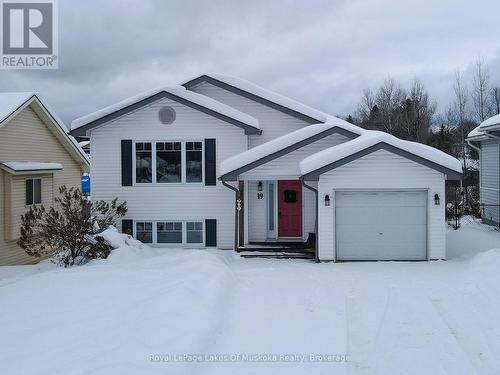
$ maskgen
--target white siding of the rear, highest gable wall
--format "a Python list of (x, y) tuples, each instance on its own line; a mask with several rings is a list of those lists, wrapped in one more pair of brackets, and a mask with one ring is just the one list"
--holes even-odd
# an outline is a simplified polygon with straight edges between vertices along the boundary
[(202, 82), (190, 88), (190, 90), (227, 104), (259, 120), (262, 134), (248, 136), (249, 149), (310, 125), (306, 121), (207, 82)]

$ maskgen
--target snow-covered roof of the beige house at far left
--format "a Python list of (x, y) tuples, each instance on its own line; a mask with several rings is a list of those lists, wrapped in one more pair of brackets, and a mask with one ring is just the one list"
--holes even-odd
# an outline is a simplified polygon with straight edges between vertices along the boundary
[(42, 95), (35, 92), (0, 92), (0, 127), (5, 123), (5, 121), (14, 114), (18, 109), (22, 108), (27, 103), (36, 102), (35, 110), (37, 110), (39, 115), (46, 115), (50, 123), (55, 125), (57, 133), (61, 135), (71, 145), (70, 150), (74, 152), (74, 155), (78, 155), (80, 159), (83, 160), (85, 164), (90, 164), (90, 161), (85, 154), (85, 151), (81, 149), (78, 142), (68, 134), (68, 128), (64, 122), (59, 118), (57, 113), (51, 108), (48, 102), (44, 99)]

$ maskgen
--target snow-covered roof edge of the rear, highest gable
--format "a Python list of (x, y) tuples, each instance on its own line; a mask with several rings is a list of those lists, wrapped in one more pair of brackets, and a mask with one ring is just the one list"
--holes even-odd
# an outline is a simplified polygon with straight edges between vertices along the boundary
[(296, 100), (290, 99), (286, 96), (277, 94), (275, 92), (266, 90), (260, 86), (257, 86), (256, 84), (249, 82), (247, 80), (241, 79), (241, 78), (236, 78), (236, 77), (231, 77), (223, 74), (216, 74), (216, 73), (210, 73), (210, 74), (204, 74), (202, 76), (199, 76), (195, 79), (190, 79), (189, 81), (184, 82), (184, 85), (188, 85), (191, 82), (198, 81), (199, 79), (202, 79), (203, 77), (209, 77), (212, 78), (216, 81), (225, 83), (226, 85), (233, 86), (239, 90), (245, 91), (247, 93), (250, 93), (252, 95), (258, 96), (260, 98), (266, 99), (272, 103), (278, 104), (282, 107), (288, 108), (294, 112), (303, 114), (307, 117), (310, 117), (312, 119), (317, 120), (318, 122), (326, 122), (328, 120), (328, 115), (326, 113), (323, 113), (321, 111), (318, 111), (317, 109), (311, 108), (305, 104), (302, 104)]

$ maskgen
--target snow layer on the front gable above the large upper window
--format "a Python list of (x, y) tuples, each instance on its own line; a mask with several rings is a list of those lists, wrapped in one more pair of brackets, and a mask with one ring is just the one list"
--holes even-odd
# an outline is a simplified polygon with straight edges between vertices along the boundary
[(141, 100), (147, 99), (147, 98), (149, 98), (153, 95), (159, 94), (161, 92), (170, 93), (170, 94), (175, 95), (179, 98), (185, 99), (191, 103), (200, 105), (204, 108), (210, 109), (214, 112), (217, 112), (221, 115), (229, 117), (233, 120), (236, 120), (238, 122), (246, 124), (252, 128), (255, 128), (258, 130), (260, 129), (259, 128), (259, 121), (256, 118), (254, 118), (246, 113), (243, 113), (241, 111), (238, 111), (237, 109), (229, 107), (228, 105), (223, 104), (221, 102), (218, 102), (212, 98), (209, 98), (205, 95), (200, 95), (200, 94), (197, 94), (193, 91), (189, 91), (183, 86), (174, 85), (174, 86), (160, 87), (160, 88), (156, 88), (153, 90), (149, 90), (149, 91), (140, 93), (138, 95), (132, 96), (131, 98), (122, 100), (116, 104), (112, 104), (112, 105), (105, 107), (103, 109), (100, 109), (96, 112), (90, 113), (86, 116), (77, 118), (76, 120), (73, 120), (73, 122), (71, 123), (71, 130), (78, 129), (84, 125), (87, 125), (87, 124), (95, 121), (95, 120), (98, 120), (104, 116), (110, 115), (116, 111), (119, 111), (123, 108), (126, 108), (132, 104), (135, 104)]

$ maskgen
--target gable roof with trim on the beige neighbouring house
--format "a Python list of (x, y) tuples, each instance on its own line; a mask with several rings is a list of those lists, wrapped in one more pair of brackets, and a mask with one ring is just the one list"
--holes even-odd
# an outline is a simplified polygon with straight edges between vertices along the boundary
[(66, 125), (48, 105), (47, 101), (34, 92), (2, 92), (0, 93), (0, 129), (27, 106), (32, 106), (35, 113), (54, 132), (56, 138), (79, 164), (89, 166), (87, 154), (76, 140), (67, 132)]

